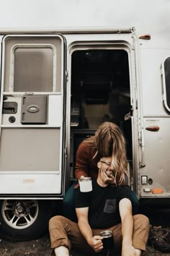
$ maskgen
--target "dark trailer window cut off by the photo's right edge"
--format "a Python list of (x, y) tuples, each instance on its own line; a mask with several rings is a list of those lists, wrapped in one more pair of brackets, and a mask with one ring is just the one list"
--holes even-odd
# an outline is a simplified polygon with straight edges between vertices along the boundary
[(164, 61), (164, 104), (166, 109), (170, 112), (170, 57)]

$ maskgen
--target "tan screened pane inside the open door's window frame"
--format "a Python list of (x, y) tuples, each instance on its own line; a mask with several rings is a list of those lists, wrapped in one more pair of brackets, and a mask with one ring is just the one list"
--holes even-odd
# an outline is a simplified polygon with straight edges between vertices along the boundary
[(14, 51), (14, 92), (53, 90), (53, 48), (17, 47)]

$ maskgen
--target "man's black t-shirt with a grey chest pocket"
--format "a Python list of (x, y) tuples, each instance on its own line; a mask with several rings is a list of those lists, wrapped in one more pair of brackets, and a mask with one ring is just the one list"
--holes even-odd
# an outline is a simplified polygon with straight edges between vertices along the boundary
[[(97, 180), (92, 181), (91, 192), (76, 189), (75, 207), (89, 207), (89, 225), (92, 229), (108, 229), (121, 222), (119, 202), (122, 198), (131, 200), (130, 188), (126, 185), (100, 187)], [(131, 200), (132, 201), (132, 200)]]

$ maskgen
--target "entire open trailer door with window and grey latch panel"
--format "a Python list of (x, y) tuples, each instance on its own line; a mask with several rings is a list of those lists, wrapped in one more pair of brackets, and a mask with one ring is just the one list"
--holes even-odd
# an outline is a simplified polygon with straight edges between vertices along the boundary
[(1, 197), (63, 194), (64, 45), (61, 35), (3, 39)]

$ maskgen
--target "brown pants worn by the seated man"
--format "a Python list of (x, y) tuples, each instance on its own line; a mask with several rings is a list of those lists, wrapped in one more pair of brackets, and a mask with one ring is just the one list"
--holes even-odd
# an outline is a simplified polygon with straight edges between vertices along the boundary
[[(121, 223), (112, 226), (107, 230), (112, 230), (115, 249), (121, 249), (122, 244), (122, 225)], [(106, 229), (92, 229), (94, 236), (99, 236), (100, 231)], [(70, 221), (63, 216), (55, 216), (49, 222), (51, 247), (65, 246), (69, 249), (76, 249), (79, 252), (86, 252), (86, 254), (94, 253), (94, 250), (87, 244), (84, 236), (81, 235), (77, 223)], [(146, 250), (146, 243), (148, 241), (149, 221), (146, 216), (138, 214), (133, 216), (133, 247), (135, 249)]]

